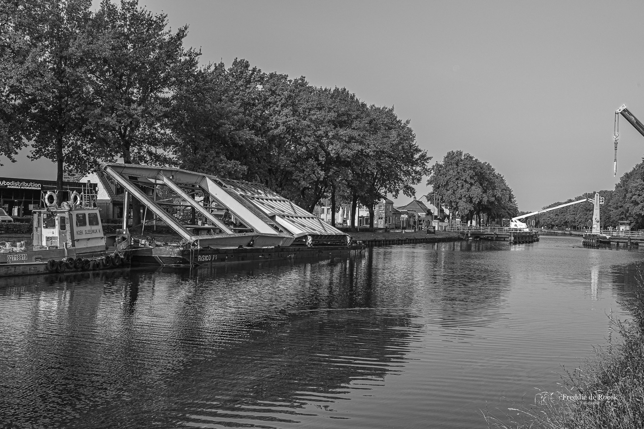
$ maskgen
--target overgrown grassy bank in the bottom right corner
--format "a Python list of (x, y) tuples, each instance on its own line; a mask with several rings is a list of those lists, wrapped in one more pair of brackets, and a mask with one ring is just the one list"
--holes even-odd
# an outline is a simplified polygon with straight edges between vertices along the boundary
[[(497, 429), (631, 429), (644, 424), (644, 266), (629, 322), (612, 320), (621, 342), (597, 347), (580, 367), (562, 374), (556, 392), (538, 392), (534, 403), (511, 403), (510, 413), (483, 415)], [(531, 400), (532, 398), (530, 398)]]

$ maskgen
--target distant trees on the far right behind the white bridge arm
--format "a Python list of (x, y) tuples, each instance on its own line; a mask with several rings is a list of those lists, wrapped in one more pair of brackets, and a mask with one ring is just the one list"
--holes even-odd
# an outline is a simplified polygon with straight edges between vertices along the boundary
[[(600, 190), (599, 194), (604, 197), (604, 204), (600, 206), (600, 221), (604, 228), (616, 227), (619, 221), (629, 221), (631, 229), (644, 229), (644, 162), (621, 176), (614, 190)], [(544, 208), (571, 203), (582, 198), (592, 199), (594, 196), (594, 191), (588, 192)], [(592, 208), (591, 203), (579, 203), (536, 215), (534, 219), (536, 226), (581, 229), (583, 226), (588, 226), (588, 221), (592, 219)]]

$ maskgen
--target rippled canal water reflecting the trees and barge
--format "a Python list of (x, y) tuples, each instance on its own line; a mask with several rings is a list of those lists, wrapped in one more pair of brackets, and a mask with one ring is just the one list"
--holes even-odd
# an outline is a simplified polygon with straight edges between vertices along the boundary
[(0, 286), (7, 428), (484, 428), (616, 341), (644, 253), (448, 242)]

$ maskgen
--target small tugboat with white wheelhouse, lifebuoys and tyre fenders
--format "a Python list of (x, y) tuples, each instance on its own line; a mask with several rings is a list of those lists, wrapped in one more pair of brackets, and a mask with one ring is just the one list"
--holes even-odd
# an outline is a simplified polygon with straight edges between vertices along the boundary
[(0, 277), (129, 265), (130, 237), (104, 235), (96, 196), (67, 192), (60, 206), (56, 192), (43, 193), (46, 208), (33, 210), (32, 245), (0, 241)]

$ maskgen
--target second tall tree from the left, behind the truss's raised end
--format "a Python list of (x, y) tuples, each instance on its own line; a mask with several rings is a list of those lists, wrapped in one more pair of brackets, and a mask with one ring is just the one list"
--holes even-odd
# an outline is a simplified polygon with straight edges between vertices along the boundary
[[(120, 7), (103, 0), (93, 19), (87, 127), (105, 154), (124, 163), (170, 162), (171, 98), (194, 73), (200, 53), (184, 49), (187, 26), (175, 33), (167, 27), (166, 14), (140, 8), (137, 0), (122, 0)], [(132, 206), (138, 225), (137, 199)]]

